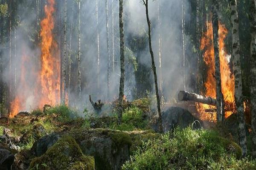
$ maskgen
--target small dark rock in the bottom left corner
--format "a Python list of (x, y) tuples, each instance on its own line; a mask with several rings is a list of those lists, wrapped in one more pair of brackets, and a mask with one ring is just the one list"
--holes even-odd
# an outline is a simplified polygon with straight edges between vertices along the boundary
[(9, 150), (0, 149), (0, 169), (1, 170), (11, 170), (14, 159), (15, 159), (14, 155)]

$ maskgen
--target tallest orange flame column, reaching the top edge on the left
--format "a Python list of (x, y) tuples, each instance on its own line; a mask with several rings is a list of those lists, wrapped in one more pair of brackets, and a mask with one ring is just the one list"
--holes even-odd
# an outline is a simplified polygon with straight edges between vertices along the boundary
[[(55, 105), (60, 96), (60, 58), (58, 45), (54, 40), (53, 28), (55, 11), (54, 0), (48, 0), (49, 6), (44, 7), (46, 17), (41, 21), (41, 101), (40, 106), (46, 103)], [(55, 56), (54, 56), (55, 55)]]

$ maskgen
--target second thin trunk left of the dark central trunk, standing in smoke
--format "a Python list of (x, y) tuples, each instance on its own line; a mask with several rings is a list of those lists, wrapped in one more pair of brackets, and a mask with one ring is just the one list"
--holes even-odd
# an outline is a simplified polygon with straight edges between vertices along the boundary
[(106, 7), (106, 31), (107, 31), (107, 50), (108, 50), (108, 98), (110, 98), (110, 48), (109, 48), (109, 27), (108, 27), (108, 0), (105, 0)]

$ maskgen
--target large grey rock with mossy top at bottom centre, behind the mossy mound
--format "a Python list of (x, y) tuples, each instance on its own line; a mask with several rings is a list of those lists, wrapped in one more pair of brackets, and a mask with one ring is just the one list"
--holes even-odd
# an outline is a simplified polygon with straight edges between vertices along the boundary
[(93, 156), (97, 170), (121, 170), (122, 164), (130, 159), (137, 147), (149, 139), (157, 139), (160, 134), (152, 131), (122, 132), (109, 129), (76, 129), (69, 132), (54, 133), (38, 140), (32, 148), (42, 155), (49, 144), (52, 145), (61, 136), (73, 137), (82, 153)]

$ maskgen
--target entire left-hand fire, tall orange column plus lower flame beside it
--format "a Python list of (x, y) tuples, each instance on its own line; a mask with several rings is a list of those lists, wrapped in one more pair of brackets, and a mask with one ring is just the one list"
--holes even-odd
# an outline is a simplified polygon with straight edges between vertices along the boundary
[[(36, 74), (38, 79), (35, 82), (35, 88), (29, 89), (35, 97), (34, 106), (43, 107), (45, 104), (55, 105), (60, 100), (60, 58), (58, 44), (54, 40), (54, 12), (55, 1), (48, 0), (44, 7), (45, 18), (41, 21), (41, 70)], [(23, 91), (27, 88), (26, 76), (29, 70), (25, 69), (26, 57), (22, 57), (20, 72), (20, 88), (17, 89), (17, 95), (11, 102), (10, 117), (14, 117), (19, 111), (26, 109), (26, 97)]]

